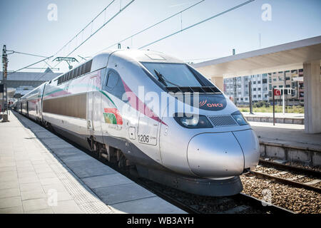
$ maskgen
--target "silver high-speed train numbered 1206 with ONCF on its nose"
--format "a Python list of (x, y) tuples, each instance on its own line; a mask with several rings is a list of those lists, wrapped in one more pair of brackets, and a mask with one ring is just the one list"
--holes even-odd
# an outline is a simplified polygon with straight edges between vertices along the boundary
[(197, 195), (238, 194), (240, 175), (258, 165), (258, 138), (238, 108), (156, 51), (98, 54), (14, 106), (120, 167)]

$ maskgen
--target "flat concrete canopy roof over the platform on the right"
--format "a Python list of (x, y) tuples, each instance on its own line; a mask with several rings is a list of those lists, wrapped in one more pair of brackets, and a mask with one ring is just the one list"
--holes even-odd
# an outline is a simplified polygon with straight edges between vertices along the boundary
[(208, 78), (250, 76), (303, 68), (321, 59), (321, 36), (217, 58), (192, 66)]

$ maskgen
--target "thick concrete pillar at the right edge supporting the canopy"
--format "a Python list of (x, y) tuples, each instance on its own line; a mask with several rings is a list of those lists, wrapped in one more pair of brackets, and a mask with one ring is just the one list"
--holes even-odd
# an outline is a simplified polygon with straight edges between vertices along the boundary
[(320, 61), (303, 63), (305, 88), (305, 132), (321, 133)]

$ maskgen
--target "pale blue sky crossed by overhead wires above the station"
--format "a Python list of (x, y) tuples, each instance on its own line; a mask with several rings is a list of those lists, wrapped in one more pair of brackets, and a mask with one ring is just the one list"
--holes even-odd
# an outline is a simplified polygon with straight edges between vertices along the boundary
[[(87, 41), (71, 56), (92, 56), (93, 53), (154, 24), (171, 14), (195, 4), (198, 0), (136, 0)], [(6, 0), (0, 1), (0, 45), (8, 50), (51, 56), (88, 24), (111, 0)], [(116, 0), (107, 11), (108, 19), (129, 0)], [(182, 14), (183, 28), (220, 13), (245, 0), (205, 0)], [(58, 21), (49, 21), (49, 4), (58, 6)], [(272, 20), (263, 21), (263, 4), (272, 6)], [(219, 16), (204, 24), (190, 28), (148, 48), (172, 54), (184, 60), (198, 58), (220, 58), (258, 48), (275, 46), (321, 35), (321, 1), (319, 0), (256, 0), (228, 14)], [(93, 25), (93, 31), (103, 23)], [(122, 43), (122, 47), (139, 48), (180, 29), (180, 16)], [(82, 37), (88, 36), (91, 27)], [(261, 46), (259, 44), (259, 33)], [(76, 46), (76, 41), (58, 56), (63, 56)], [(78, 44), (81, 37), (78, 38)], [(41, 58), (9, 56), (9, 70), (17, 70)], [(204, 59), (205, 60), (205, 59)], [(56, 63), (51, 63), (51, 65)], [(35, 67), (44, 67), (40, 63)], [(59, 64), (61, 72), (67, 70), (66, 63)]]

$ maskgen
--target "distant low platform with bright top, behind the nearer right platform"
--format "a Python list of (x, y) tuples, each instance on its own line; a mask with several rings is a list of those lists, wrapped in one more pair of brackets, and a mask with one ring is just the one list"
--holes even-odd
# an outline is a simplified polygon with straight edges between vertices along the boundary
[[(273, 113), (253, 113), (242, 112), (248, 121), (273, 123)], [(305, 124), (304, 113), (275, 113), (275, 123)]]

